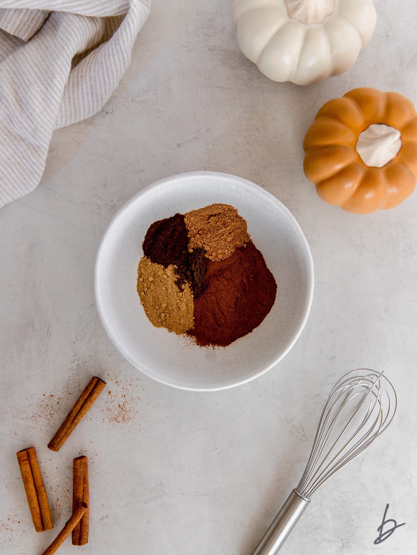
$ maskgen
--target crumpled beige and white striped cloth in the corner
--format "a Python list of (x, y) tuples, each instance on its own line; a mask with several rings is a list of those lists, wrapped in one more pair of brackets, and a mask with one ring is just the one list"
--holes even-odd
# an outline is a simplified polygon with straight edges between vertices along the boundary
[(0, 0), (0, 207), (41, 180), (54, 129), (96, 114), (150, 0)]

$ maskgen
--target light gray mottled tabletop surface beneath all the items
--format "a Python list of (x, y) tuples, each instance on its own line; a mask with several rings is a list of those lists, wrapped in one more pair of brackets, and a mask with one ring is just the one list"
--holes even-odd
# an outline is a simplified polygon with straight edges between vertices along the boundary
[[(251, 555), (299, 481), (329, 389), (358, 366), (385, 370), (398, 415), (315, 494), (282, 554), (414, 552), (417, 194), (356, 216), (323, 203), (302, 170), (304, 133), (326, 100), (373, 86), (417, 102), (415, 3), (375, 7), (374, 36), (354, 67), (302, 88), (269, 81), (240, 54), (229, 3), (154, 0), (114, 97), (55, 133), (41, 185), (0, 211), (2, 553), (41, 553), (52, 541), (69, 517), (72, 458), (82, 452), (90, 541), (68, 540), (63, 555)], [(92, 287), (114, 211), (157, 179), (199, 169), (277, 196), (307, 236), (316, 276), (310, 319), (289, 355), (247, 385), (204, 394), (129, 366), (104, 334)], [(110, 395), (59, 453), (48, 451), (92, 374), (107, 379)], [(56, 522), (43, 534), (15, 455), (29, 445)], [(374, 546), (386, 503), (406, 526)]]

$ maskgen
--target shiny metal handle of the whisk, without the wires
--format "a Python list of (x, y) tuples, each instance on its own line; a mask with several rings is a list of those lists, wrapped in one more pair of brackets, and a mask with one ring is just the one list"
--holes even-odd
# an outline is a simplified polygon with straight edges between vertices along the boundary
[(293, 490), (265, 532), (253, 555), (276, 555), (307, 508), (310, 499)]

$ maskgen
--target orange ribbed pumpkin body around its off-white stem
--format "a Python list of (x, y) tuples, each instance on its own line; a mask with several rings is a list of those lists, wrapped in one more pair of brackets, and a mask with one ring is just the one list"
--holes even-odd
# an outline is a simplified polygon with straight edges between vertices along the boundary
[[(381, 168), (356, 151), (359, 134), (383, 123), (401, 133), (398, 153)], [(413, 193), (417, 178), (417, 114), (398, 93), (368, 87), (326, 102), (304, 137), (304, 173), (326, 203), (355, 214), (394, 208)]]

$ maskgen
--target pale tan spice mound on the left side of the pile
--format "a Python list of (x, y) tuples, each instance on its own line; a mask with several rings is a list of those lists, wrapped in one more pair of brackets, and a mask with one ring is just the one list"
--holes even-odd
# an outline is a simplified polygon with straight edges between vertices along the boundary
[(194, 301), (188, 283), (178, 289), (175, 268), (167, 269), (143, 256), (138, 266), (137, 291), (145, 314), (156, 327), (184, 334), (193, 327)]

